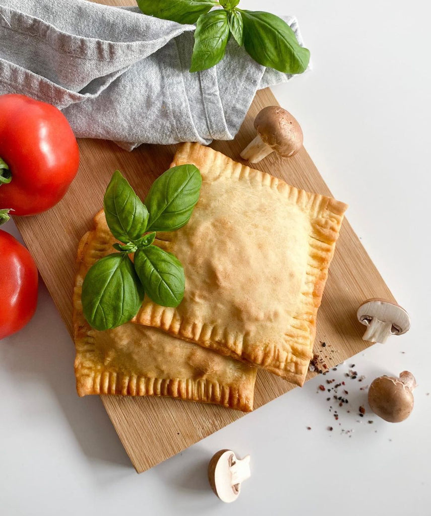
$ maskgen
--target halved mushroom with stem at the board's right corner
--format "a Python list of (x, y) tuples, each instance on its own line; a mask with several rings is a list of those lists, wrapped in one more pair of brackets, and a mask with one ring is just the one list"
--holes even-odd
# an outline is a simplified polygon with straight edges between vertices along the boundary
[(410, 328), (410, 317), (404, 308), (385, 299), (367, 299), (359, 307), (357, 317), (368, 326), (362, 336), (364, 341), (384, 343), (389, 335), (402, 335)]

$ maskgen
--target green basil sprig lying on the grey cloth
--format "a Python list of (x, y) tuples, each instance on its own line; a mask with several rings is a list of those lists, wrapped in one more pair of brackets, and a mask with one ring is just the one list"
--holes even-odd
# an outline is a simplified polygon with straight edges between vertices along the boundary
[[(196, 23), (190, 72), (216, 65), (232, 35), (260, 65), (280, 72), (304, 72), (310, 51), (290, 26), (275, 14), (238, 9), (240, 0), (137, 0), (140, 10), (178, 23)], [(211, 10), (213, 7), (218, 9)], [(221, 8), (221, 9), (220, 9)]]

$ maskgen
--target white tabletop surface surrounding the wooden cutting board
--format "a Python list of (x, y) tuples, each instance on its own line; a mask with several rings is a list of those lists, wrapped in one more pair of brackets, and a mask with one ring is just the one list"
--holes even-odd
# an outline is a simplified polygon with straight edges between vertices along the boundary
[[(333, 377), (344, 379), (350, 363), (364, 384), (409, 369), (419, 383), (414, 411), (397, 425), (369, 414), (360, 420), (365, 394), (346, 379), (353, 410), (339, 409), (337, 426), (326, 394), (317, 393), (332, 376), (317, 377), (137, 475), (100, 399), (77, 397), (73, 343), (41, 285), (34, 319), (0, 344), (2, 516), (431, 514), (429, 3), (241, 7), (298, 17), (314, 69), (275, 95), (300, 121), (317, 168), (350, 205), (348, 219), (412, 318), (408, 334)], [(12, 223), (5, 229), (17, 235)], [(354, 429), (352, 437), (341, 429)], [(230, 506), (206, 480), (207, 462), (226, 447), (252, 460), (252, 477)]]

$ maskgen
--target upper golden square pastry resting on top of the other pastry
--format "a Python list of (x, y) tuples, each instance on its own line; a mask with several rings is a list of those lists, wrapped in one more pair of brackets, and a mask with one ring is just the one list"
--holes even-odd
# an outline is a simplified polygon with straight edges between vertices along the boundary
[(197, 143), (182, 144), (172, 166), (185, 163), (202, 174), (199, 202), (155, 240), (184, 266), (184, 299), (164, 308), (146, 297), (135, 321), (302, 385), (347, 206)]

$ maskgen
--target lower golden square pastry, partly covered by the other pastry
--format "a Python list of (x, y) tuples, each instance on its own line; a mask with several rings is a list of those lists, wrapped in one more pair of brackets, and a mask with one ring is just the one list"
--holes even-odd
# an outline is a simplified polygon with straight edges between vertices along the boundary
[(256, 368), (132, 322), (107, 331), (88, 325), (82, 312), (82, 283), (96, 260), (115, 252), (116, 241), (103, 212), (94, 222), (95, 229), (79, 243), (73, 293), (79, 396), (172, 396), (252, 410)]

